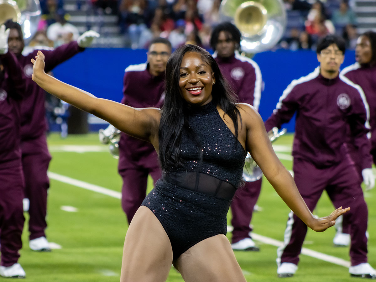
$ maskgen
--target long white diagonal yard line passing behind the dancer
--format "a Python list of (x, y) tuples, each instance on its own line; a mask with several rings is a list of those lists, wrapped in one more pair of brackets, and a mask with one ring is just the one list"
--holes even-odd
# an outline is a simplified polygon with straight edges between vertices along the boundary
[[(104, 188), (104, 187), (101, 187), (101, 186), (97, 186), (97, 185), (94, 185), (94, 184), (83, 182), (81, 180), (73, 179), (71, 177), (67, 177), (67, 176), (60, 175), (60, 174), (53, 173), (53, 172), (49, 172), (48, 175), (51, 179), (58, 180), (58, 181), (63, 182), (63, 183), (67, 183), (67, 184), (70, 184), (70, 185), (73, 185), (73, 186), (84, 188), (86, 190), (94, 191), (94, 192), (105, 194), (107, 196), (111, 196), (111, 197), (114, 197), (114, 198), (117, 198), (117, 199), (121, 199), (121, 193), (117, 192), (117, 191), (113, 191), (113, 190), (110, 190), (110, 189), (107, 189), (107, 188)], [(276, 246), (276, 247), (282, 246), (282, 244), (283, 244), (283, 242), (281, 242), (281, 241), (278, 241), (278, 240), (275, 240), (275, 239), (272, 239), (272, 238), (269, 238), (269, 237), (265, 237), (265, 236), (262, 236), (262, 235), (259, 235), (259, 234), (256, 234), (256, 233), (252, 233), (252, 237), (255, 240), (258, 240), (258, 241), (260, 241), (264, 244), (269, 244), (269, 245)], [(321, 259), (323, 261), (331, 262), (333, 264), (342, 265), (344, 267), (350, 266), (349, 261), (345, 261), (344, 259), (337, 258), (335, 256), (326, 255), (324, 253), (316, 252), (316, 251), (310, 250), (310, 249), (303, 248), (302, 254), (307, 255), (307, 256), (311, 256), (313, 258)]]

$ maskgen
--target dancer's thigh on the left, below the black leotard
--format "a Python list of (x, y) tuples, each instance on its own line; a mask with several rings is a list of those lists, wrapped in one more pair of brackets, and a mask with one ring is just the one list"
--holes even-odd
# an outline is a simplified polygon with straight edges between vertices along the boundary
[(149, 208), (141, 206), (125, 237), (120, 282), (165, 282), (172, 257), (161, 223)]

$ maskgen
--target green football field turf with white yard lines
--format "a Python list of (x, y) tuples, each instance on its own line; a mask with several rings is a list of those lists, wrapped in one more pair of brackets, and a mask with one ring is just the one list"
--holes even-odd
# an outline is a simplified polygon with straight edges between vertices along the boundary
[[(273, 144), (289, 170), (291, 141), (292, 135), (285, 135)], [(19, 262), (26, 271), (27, 281), (119, 281), (128, 224), (120, 205), (121, 178), (117, 174), (117, 160), (110, 155), (108, 146), (99, 143), (97, 134), (69, 135), (66, 139), (52, 134), (48, 143), (53, 159), (49, 169), (47, 238), (57, 249), (51, 253), (29, 249), (25, 214), (24, 247)], [(376, 267), (375, 193), (373, 190), (365, 192), (369, 209), (368, 258), (373, 267)], [(235, 252), (235, 255), (247, 281), (280, 281), (282, 278), (276, 275), (276, 250), (282, 243), (290, 210), (265, 179), (258, 206), (262, 210), (255, 212), (252, 224), (253, 238), (261, 251)], [(325, 216), (333, 209), (327, 195), (323, 194), (315, 214)], [(333, 247), (334, 233), (334, 228), (323, 233), (308, 230), (303, 246), (305, 254), (300, 256), (297, 273), (282, 280), (360, 280), (349, 277), (346, 267), (349, 249)], [(227, 237), (230, 236), (231, 232), (228, 232)], [(172, 268), (167, 281), (182, 282), (183, 279)]]

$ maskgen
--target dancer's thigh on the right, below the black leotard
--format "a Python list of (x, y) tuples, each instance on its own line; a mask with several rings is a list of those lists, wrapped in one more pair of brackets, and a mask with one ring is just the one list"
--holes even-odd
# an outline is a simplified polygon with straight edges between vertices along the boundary
[(223, 234), (197, 243), (179, 256), (174, 265), (186, 282), (246, 282)]

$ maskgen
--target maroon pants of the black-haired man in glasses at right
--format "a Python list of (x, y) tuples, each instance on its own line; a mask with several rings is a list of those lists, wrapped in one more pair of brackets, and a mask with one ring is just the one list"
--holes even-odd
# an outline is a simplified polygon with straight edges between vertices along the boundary
[[(347, 158), (348, 157), (348, 158)], [(363, 192), (359, 185), (359, 177), (350, 156), (343, 162), (326, 168), (317, 168), (311, 162), (294, 158), (294, 180), (308, 208), (313, 211), (321, 194), (326, 190), (335, 208), (350, 207), (343, 215), (349, 222), (351, 246), (351, 265), (367, 262), (368, 209)], [(289, 214), (285, 230), (284, 246), (277, 250), (278, 259), (282, 262), (298, 264), (299, 254), (307, 232), (307, 226), (293, 212)]]

